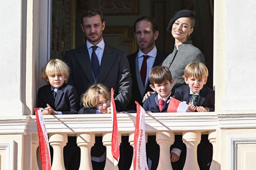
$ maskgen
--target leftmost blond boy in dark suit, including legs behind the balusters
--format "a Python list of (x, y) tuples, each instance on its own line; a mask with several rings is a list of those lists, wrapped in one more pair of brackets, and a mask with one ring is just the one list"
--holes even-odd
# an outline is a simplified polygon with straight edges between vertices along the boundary
[[(42, 111), (43, 115), (77, 114), (80, 107), (79, 98), (76, 89), (66, 84), (68, 78), (69, 69), (67, 65), (59, 59), (50, 60), (42, 68), (42, 79), (48, 84), (38, 90), (37, 107), (48, 109)], [(64, 165), (66, 169), (68, 167), (74, 167), (71, 163), (76, 162), (72, 161), (72, 159), (75, 159), (73, 156), (76, 150), (80, 150), (76, 144), (76, 137), (69, 136), (68, 143), (63, 149)], [(50, 147), (50, 153), (52, 160), (52, 147)]]

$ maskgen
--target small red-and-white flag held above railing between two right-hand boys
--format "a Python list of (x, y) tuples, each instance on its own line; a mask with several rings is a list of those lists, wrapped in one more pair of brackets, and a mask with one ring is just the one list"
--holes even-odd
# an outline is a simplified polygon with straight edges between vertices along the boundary
[(188, 110), (189, 105), (186, 103), (183, 103), (177, 99), (171, 98), (170, 103), (167, 108), (168, 113), (173, 113), (173, 112), (190, 112)]

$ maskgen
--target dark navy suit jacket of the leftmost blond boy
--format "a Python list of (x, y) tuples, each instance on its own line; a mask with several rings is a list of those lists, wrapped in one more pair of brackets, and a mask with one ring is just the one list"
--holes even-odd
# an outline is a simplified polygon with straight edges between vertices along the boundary
[(77, 91), (68, 84), (59, 87), (55, 100), (51, 92), (51, 85), (47, 84), (39, 88), (37, 99), (37, 107), (45, 108), (48, 103), (55, 111), (62, 112), (62, 114), (77, 114), (80, 108)]

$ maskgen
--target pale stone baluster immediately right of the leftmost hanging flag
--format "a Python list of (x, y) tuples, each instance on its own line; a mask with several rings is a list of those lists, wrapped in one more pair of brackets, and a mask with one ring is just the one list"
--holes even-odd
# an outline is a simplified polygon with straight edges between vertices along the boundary
[(68, 142), (67, 133), (52, 133), (49, 135), (49, 142), (53, 148), (52, 170), (65, 170), (63, 160), (63, 148)]

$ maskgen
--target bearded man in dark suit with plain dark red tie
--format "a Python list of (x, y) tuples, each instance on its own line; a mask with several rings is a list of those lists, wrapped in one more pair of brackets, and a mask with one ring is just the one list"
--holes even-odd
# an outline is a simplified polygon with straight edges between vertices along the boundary
[(150, 70), (168, 56), (155, 47), (155, 40), (158, 37), (158, 24), (155, 19), (141, 17), (134, 23), (134, 36), (139, 50), (128, 55), (130, 70), (132, 74), (132, 99), (127, 108), (136, 110), (137, 101), (141, 106), (144, 94), (152, 91), (149, 87), (148, 74)]

